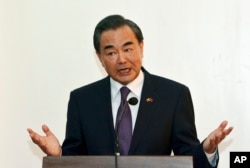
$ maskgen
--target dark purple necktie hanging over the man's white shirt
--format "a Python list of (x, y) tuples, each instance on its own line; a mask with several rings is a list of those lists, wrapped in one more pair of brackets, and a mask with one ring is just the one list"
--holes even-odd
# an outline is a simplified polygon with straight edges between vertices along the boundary
[(127, 155), (132, 138), (132, 117), (127, 101), (130, 90), (127, 87), (122, 87), (120, 92), (121, 104), (117, 112), (116, 129), (119, 138), (120, 154)]

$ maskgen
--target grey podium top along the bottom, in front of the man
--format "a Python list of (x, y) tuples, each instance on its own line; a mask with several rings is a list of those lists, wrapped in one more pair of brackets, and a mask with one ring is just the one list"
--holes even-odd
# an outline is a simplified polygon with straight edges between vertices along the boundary
[[(117, 161), (117, 162), (116, 162)], [(192, 156), (62, 156), (43, 158), (42, 168), (193, 168)]]

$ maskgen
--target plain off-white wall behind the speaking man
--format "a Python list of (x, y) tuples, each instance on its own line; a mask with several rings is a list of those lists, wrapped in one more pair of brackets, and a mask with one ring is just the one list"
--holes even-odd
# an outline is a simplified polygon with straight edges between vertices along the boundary
[[(96, 23), (119, 13), (145, 36), (148, 71), (189, 86), (198, 136), (227, 119), (219, 146), (250, 151), (250, 1), (0, 0), (0, 167), (41, 167), (27, 127), (64, 139), (69, 92), (106, 74), (92, 45)], [(248, 131), (247, 131), (248, 130)]]

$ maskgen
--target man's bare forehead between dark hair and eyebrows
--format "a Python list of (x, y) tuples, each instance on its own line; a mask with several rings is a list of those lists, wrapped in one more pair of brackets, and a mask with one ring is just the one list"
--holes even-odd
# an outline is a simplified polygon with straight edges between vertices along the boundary
[(136, 36), (129, 26), (106, 30), (100, 37), (101, 49), (103, 49), (106, 45), (116, 46), (123, 45), (127, 42), (135, 43), (136, 41)]

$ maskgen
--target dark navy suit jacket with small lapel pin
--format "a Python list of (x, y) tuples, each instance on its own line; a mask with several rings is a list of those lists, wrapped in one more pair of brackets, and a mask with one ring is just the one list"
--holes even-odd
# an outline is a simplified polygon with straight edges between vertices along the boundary
[[(192, 155), (195, 168), (211, 167), (197, 138), (189, 89), (143, 72), (129, 155), (170, 155), (173, 150), (175, 155)], [(113, 155), (114, 144), (110, 77), (106, 77), (71, 92), (62, 154)]]

